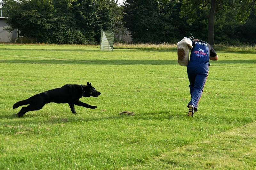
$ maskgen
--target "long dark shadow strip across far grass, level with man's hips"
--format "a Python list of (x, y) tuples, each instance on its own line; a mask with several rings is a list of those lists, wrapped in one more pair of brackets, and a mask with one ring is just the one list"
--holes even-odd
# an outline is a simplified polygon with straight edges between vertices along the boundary
[[(4, 64), (94, 64), (94, 65), (178, 65), (177, 60), (0, 60)], [(256, 60), (219, 60), (214, 64), (256, 64)]]

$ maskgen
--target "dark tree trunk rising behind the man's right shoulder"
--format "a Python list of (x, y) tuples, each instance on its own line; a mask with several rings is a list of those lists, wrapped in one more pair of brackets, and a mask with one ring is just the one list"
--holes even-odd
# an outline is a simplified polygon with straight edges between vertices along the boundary
[(217, 12), (217, 0), (212, 0), (210, 14), (209, 14), (209, 25), (208, 25), (208, 43), (214, 45), (214, 21), (215, 14)]

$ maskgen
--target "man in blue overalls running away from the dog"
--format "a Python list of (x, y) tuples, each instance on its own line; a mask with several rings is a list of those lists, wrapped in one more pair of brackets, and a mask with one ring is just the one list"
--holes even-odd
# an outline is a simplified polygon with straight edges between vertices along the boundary
[(209, 59), (218, 60), (219, 57), (212, 46), (205, 41), (194, 39), (189, 63), (187, 66), (191, 100), (188, 103), (188, 116), (193, 116), (197, 111), (198, 102), (204, 90), (208, 77)]

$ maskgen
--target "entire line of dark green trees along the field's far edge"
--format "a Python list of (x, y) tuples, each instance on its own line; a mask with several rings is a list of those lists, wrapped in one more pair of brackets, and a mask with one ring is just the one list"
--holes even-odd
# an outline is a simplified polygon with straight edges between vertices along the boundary
[(8, 30), (36, 42), (89, 44), (100, 31), (124, 32), (134, 42), (177, 43), (195, 38), (256, 43), (256, 0), (3, 0)]

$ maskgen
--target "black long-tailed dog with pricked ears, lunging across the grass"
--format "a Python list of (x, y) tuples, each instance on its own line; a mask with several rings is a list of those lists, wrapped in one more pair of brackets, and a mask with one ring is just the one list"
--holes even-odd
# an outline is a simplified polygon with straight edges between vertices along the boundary
[(76, 114), (74, 104), (90, 109), (97, 108), (97, 106), (91, 106), (79, 101), (82, 96), (98, 97), (99, 95), (100, 92), (96, 91), (96, 89), (92, 87), (92, 83), (87, 82), (87, 86), (78, 84), (66, 84), (61, 88), (48, 90), (35, 96), (29, 97), (27, 100), (17, 102), (13, 105), (13, 109), (16, 109), (22, 105), (29, 104), (27, 107), (22, 107), (17, 114), (18, 117), (22, 117), (28, 111), (42, 109), (46, 103), (68, 103), (72, 113)]

